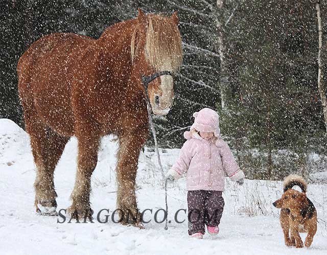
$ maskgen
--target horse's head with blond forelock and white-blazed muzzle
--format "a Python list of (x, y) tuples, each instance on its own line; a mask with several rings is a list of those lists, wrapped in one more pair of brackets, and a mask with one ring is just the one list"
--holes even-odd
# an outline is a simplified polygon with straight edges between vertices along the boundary
[[(137, 25), (132, 34), (131, 60), (138, 77), (161, 71), (176, 73), (182, 64), (178, 17), (145, 15), (138, 9)], [(148, 86), (149, 100), (155, 114), (166, 115), (174, 102), (174, 80), (162, 75)]]

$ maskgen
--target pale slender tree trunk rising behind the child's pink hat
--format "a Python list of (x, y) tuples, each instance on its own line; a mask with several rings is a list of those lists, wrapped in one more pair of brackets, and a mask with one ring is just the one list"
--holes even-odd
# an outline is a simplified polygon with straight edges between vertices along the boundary
[(225, 59), (225, 37), (224, 37), (224, 0), (217, 0), (217, 30), (218, 30), (218, 47), (220, 54), (220, 97), (221, 97), (221, 110), (226, 108), (226, 91), (228, 87), (228, 72), (226, 69)]

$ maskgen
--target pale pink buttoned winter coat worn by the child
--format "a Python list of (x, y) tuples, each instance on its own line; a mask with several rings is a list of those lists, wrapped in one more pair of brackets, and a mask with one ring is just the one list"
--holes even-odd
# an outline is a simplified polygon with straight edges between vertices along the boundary
[(221, 138), (203, 139), (196, 132), (185, 132), (188, 139), (180, 149), (179, 157), (169, 170), (178, 179), (187, 171), (186, 187), (192, 190), (224, 191), (225, 173), (231, 180), (244, 178), (228, 145)]

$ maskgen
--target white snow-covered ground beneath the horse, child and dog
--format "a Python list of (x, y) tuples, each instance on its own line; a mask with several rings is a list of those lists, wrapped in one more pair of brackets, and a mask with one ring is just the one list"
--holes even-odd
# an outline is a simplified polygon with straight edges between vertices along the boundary
[[(282, 194), (281, 181), (246, 180), (244, 186), (227, 181), (225, 208), (218, 237), (205, 235), (194, 240), (187, 234), (183, 212), (174, 222), (174, 214), (186, 206), (185, 179), (168, 189), (168, 230), (154, 222), (154, 213), (165, 208), (165, 192), (154, 152), (142, 152), (137, 173), (137, 198), (141, 211), (148, 211), (145, 229), (113, 223), (115, 209), (115, 151), (112, 137), (102, 141), (97, 169), (92, 176), (92, 208), (107, 223), (57, 223), (62, 218), (39, 216), (34, 208), (33, 163), (29, 137), (16, 124), (0, 119), (0, 254), (327, 254), (327, 187), (310, 184), (308, 196), (318, 212), (318, 231), (310, 248), (284, 245), (278, 210), (271, 203)], [(55, 172), (58, 210), (70, 205), (76, 172), (77, 141), (72, 138)], [(178, 150), (161, 151), (167, 170)], [(162, 215), (162, 214), (161, 214)], [(158, 218), (160, 213), (158, 214)], [(302, 239), (305, 234), (301, 235)]]

